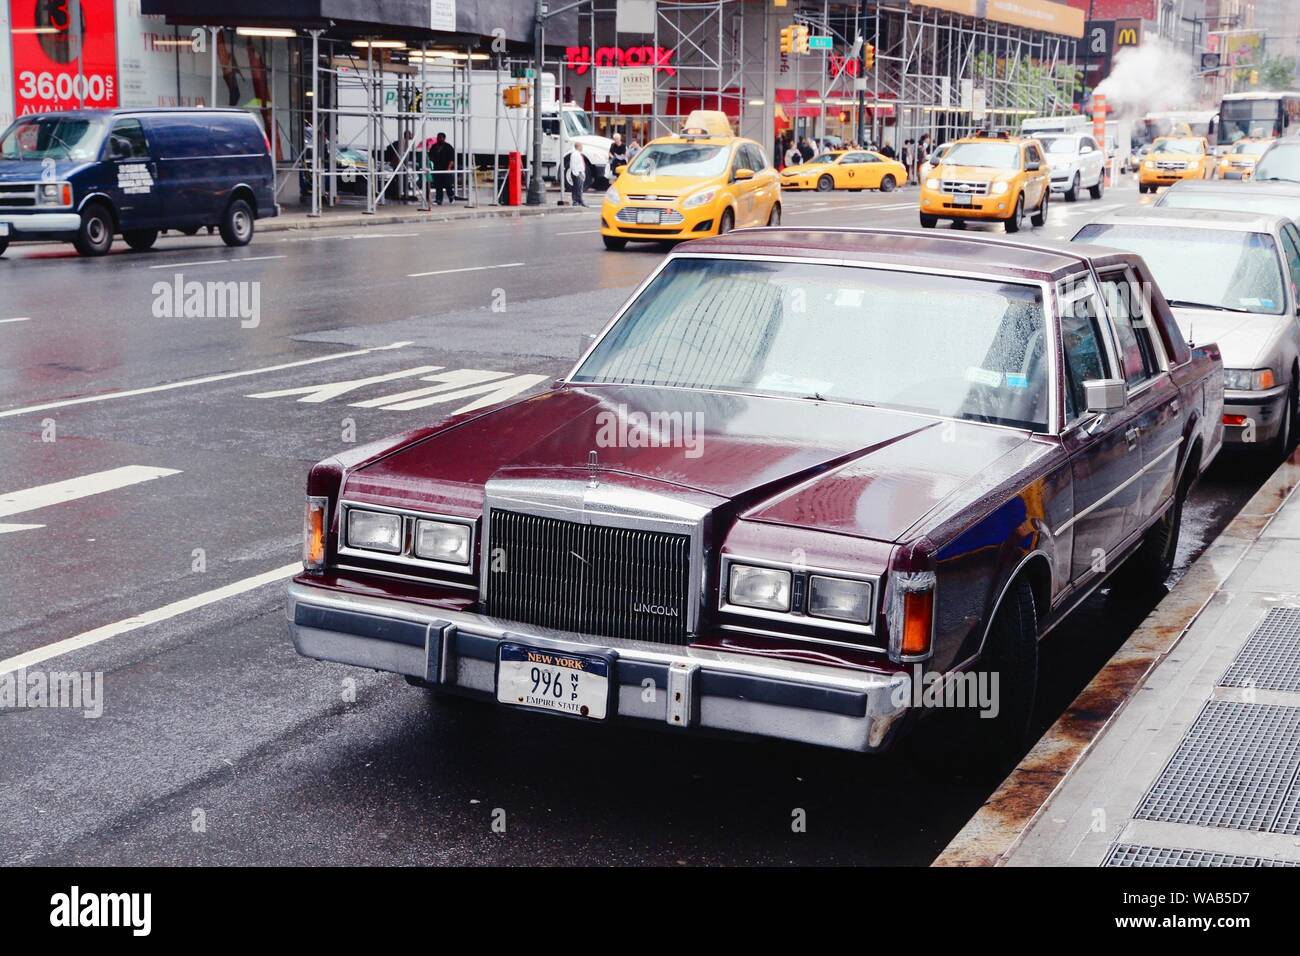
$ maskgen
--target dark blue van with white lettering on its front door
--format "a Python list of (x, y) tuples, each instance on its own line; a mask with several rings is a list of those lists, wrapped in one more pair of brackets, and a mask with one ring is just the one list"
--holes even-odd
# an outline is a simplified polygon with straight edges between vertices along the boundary
[(55, 239), (99, 256), (116, 234), (146, 250), (203, 226), (247, 246), (278, 211), (270, 143), (243, 109), (36, 113), (0, 134), (0, 255)]

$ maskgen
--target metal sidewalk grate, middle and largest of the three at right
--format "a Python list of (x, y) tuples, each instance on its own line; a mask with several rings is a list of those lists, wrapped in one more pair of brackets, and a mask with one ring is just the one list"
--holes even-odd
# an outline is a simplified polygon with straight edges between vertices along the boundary
[(1300, 708), (1209, 701), (1134, 817), (1269, 831), (1297, 770)]

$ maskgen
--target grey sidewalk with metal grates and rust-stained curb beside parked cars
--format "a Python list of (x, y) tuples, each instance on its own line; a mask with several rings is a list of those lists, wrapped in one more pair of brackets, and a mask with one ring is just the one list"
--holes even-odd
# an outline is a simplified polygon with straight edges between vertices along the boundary
[(1300, 866), (1300, 451), (936, 866)]

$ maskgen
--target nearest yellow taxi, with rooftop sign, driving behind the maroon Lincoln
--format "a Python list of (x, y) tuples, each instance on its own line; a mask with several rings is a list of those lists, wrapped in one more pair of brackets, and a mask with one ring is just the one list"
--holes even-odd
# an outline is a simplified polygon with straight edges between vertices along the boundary
[(781, 222), (780, 177), (723, 112), (697, 109), (680, 134), (650, 140), (615, 172), (601, 204), (606, 248)]

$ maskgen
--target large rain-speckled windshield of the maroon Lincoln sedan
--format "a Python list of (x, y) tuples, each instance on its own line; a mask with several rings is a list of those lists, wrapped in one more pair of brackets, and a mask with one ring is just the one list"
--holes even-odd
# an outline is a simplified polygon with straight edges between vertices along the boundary
[(879, 405), (1046, 431), (1044, 328), (1035, 285), (677, 259), (573, 381)]

